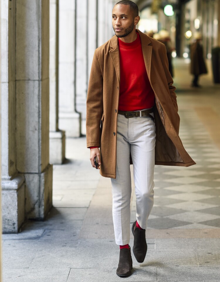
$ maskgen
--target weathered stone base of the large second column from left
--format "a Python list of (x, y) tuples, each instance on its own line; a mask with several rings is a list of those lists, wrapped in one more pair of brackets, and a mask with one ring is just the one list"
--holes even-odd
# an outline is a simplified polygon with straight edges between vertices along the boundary
[(44, 220), (52, 207), (53, 165), (41, 173), (25, 173), (26, 218)]

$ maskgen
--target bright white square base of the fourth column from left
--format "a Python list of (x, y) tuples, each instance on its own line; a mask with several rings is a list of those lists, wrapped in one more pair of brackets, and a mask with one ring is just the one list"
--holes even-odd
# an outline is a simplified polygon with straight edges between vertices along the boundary
[(81, 114), (59, 112), (59, 128), (65, 130), (66, 137), (81, 136)]

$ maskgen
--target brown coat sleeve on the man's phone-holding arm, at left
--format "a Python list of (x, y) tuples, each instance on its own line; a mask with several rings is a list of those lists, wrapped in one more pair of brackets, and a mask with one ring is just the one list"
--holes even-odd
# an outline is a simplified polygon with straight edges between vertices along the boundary
[(103, 73), (96, 52), (92, 61), (86, 101), (87, 148), (100, 147), (101, 139), (100, 123), (103, 113)]

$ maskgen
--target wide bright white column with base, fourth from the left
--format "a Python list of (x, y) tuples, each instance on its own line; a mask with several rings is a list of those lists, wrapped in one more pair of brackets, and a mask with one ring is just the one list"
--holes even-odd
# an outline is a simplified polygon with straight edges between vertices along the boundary
[(75, 1), (59, 3), (59, 128), (67, 137), (81, 134), (75, 100)]

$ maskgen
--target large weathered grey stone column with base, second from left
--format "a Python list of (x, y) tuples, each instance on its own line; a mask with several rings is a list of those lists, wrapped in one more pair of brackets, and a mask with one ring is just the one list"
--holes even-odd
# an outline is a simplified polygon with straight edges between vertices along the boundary
[(25, 175), (27, 218), (52, 207), (49, 164), (49, 0), (16, 2), (16, 168)]

